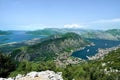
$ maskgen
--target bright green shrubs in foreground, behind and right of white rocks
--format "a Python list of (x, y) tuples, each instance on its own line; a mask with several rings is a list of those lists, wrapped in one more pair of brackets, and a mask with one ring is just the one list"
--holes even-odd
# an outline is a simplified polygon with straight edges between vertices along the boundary
[(79, 64), (69, 64), (66, 67), (57, 67), (54, 62), (41, 63), (23, 61), (10, 74), (25, 74), (30, 71), (53, 70), (62, 72), (64, 80), (119, 80), (120, 79), (120, 48), (107, 54), (104, 58), (86, 61)]

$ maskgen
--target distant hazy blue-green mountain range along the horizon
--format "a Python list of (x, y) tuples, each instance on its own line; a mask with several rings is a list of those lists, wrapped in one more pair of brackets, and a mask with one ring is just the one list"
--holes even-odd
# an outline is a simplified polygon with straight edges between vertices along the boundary
[(120, 40), (120, 30), (110, 29), (110, 30), (83, 30), (74, 28), (47, 28), (43, 30), (29, 31), (28, 34), (33, 35), (54, 35), (54, 34), (64, 34), (67, 32), (74, 32), (81, 35), (83, 38), (91, 39), (105, 39), (105, 40)]

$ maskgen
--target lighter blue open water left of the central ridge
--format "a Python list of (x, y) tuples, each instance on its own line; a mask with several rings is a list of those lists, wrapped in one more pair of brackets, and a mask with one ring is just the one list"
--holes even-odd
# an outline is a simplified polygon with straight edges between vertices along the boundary
[(29, 35), (25, 31), (13, 31), (13, 34), (0, 36), (0, 44), (9, 42), (21, 42), (33, 38), (43, 38), (45, 36)]

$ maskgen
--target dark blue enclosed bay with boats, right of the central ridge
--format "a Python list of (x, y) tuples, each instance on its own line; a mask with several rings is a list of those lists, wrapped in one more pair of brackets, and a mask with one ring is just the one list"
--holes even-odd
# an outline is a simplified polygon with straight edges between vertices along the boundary
[(86, 56), (93, 56), (98, 53), (98, 48), (110, 48), (120, 44), (120, 41), (89, 39), (95, 46), (87, 46), (83, 50), (73, 52), (72, 56), (87, 60)]

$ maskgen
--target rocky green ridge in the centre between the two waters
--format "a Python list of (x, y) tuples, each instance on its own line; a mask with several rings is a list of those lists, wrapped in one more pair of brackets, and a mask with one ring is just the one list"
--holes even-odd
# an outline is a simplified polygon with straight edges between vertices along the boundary
[(85, 47), (90, 44), (88, 41), (82, 39), (76, 33), (66, 33), (64, 35), (52, 36), (41, 43), (21, 47), (14, 50), (11, 56), (18, 61), (47, 61), (56, 60), (61, 54), (69, 54), (72, 51)]

